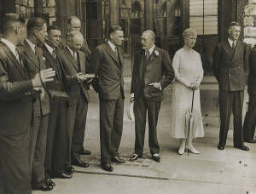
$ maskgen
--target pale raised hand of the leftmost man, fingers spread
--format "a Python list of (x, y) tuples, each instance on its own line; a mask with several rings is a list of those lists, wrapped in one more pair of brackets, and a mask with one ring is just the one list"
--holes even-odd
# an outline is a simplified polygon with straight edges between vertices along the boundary
[(55, 77), (55, 71), (52, 68), (41, 70), (32, 78), (33, 88), (41, 88), (43, 86), (42, 82), (48, 83), (54, 81), (52, 77)]

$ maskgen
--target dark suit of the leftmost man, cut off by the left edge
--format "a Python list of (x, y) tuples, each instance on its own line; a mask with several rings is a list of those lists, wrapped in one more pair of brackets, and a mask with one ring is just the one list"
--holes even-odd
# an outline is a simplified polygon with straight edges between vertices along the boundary
[[(12, 83), (9, 91), (3, 87), (7, 82)], [(31, 91), (25, 67), (7, 44), (0, 42), (0, 193), (32, 192), (28, 158)]]

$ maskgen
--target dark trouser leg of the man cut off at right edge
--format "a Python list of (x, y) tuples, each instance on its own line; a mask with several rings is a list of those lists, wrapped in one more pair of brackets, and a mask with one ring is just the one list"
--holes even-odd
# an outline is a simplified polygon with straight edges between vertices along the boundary
[(243, 123), (244, 140), (253, 140), (256, 126), (256, 95), (249, 94), (249, 105)]

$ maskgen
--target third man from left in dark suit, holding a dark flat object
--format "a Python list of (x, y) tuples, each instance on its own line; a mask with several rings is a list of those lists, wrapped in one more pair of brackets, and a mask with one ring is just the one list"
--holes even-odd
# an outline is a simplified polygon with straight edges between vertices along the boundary
[(69, 179), (72, 178), (72, 174), (66, 174), (64, 168), (67, 155), (67, 101), (61, 100), (58, 96), (53, 96), (55, 91), (66, 94), (61, 59), (59, 57), (61, 51), (58, 50), (61, 30), (58, 26), (52, 25), (47, 27), (47, 32), (48, 39), (42, 48), (44, 62), (47, 68), (52, 68), (56, 72), (56, 76), (54, 82), (47, 84), (50, 95), (50, 113), (44, 168), (46, 181), (55, 185), (49, 179), (50, 176)]

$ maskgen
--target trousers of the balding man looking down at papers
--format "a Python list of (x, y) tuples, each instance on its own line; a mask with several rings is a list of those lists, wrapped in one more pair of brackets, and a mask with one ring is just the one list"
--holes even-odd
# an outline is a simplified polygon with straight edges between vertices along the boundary
[(84, 94), (79, 95), (77, 104), (67, 108), (66, 164), (71, 164), (72, 157), (79, 157), (79, 151), (83, 149), (87, 110), (88, 102), (84, 100)]

